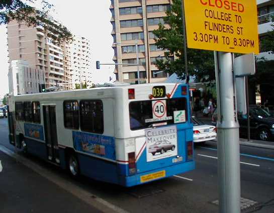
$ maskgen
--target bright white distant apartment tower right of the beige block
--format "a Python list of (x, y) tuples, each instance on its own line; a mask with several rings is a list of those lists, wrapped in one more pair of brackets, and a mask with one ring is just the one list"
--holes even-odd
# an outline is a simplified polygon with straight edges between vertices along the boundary
[(92, 86), (90, 73), (91, 47), (90, 41), (84, 37), (76, 36), (71, 45), (72, 50), (72, 83), (73, 85), (86, 83), (87, 88)]

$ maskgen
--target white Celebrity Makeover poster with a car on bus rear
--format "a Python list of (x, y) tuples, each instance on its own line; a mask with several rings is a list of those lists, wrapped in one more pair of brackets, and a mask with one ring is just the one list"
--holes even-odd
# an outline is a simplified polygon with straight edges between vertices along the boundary
[(176, 126), (146, 129), (147, 162), (177, 155)]

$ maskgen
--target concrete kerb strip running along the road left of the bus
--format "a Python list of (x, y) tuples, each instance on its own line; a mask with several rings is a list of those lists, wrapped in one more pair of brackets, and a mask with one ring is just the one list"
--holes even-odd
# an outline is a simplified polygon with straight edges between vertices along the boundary
[(86, 202), (87, 204), (101, 210), (102, 212), (106, 213), (129, 213), (128, 211), (116, 206), (103, 198), (100, 198), (96, 194), (90, 193), (89, 191), (83, 189), (81, 186), (75, 185), (69, 180), (66, 180), (60, 177), (58, 174), (43, 168), (42, 166), (38, 165), (34, 161), (29, 160), (26, 157), (18, 155), (12, 150), (9, 150), (3, 145), (0, 145), (0, 151), (5, 153), (6, 155), (16, 159), (17, 162), (23, 164), (24, 166), (30, 168), (34, 172), (40, 174), (42, 177), (48, 179), (49, 181), (55, 183), (57, 186), (61, 187), (62, 189), (68, 191), (69, 193), (73, 194), (74, 196), (78, 197), (82, 201)]

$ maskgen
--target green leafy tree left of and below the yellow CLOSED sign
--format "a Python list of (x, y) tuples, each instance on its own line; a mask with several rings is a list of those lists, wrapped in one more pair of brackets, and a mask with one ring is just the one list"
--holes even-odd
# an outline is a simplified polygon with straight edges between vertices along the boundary
[[(170, 10), (166, 12), (164, 22), (170, 27), (159, 24), (154, 30), (157, 47), (165, 49), (165, 59), (156, 60), (156, 65), (166, 73), (176, 73), (179, 77), (185, 74), (184, 33), (181, 19), (181, 0), (173, 0)], [(175, 59), (170, 56), (175, 55)], [(215, 80), (214, 53), (199, 49), (187, 49), (188, 70), (195, 75), (197, 81), (206, 82)]]

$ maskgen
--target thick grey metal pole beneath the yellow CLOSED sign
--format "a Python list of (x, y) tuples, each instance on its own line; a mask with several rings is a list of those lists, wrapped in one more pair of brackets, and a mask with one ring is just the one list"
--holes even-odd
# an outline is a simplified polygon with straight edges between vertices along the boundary
[(214, 52), (218, 102), (219, 212), (240, 213), (240, 146), (234, 55)]

